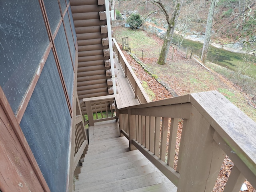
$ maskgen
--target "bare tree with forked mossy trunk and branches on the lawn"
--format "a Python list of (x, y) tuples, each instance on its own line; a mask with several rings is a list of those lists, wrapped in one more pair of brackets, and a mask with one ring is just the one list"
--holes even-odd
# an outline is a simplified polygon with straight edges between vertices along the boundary
[(164, 38), (164, 44), (162, 46), (162, 50), (160, 52), (160, 56), (158, 59), (158, 64), (160, 65), (163, 65), (166, 63), (166, 58), (170, 49), (170, 45), (172, 43), (174, 28), (178, 21), (183, 0), (172, 0), (172, 2), (173, 2), (172, 4), (173, 9), (172, 9), (172, 13), (170, 14), (170, 12), (168, 12), (168, 9), (167, 9), (167, 4), (169, 4), (170, 1), (164, 4), (161, 0), (153, 0), (153, 3), (156, 4), (160, 8), (160, 10), (162, 10), (162, 12), (164, 13), (164, 16), (168, 24), (166, 35)]

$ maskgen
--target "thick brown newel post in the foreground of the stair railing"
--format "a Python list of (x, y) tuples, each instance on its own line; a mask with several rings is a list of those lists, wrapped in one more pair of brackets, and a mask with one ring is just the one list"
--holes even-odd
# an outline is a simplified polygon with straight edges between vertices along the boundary
[(213, 140), (214, 129), (192, 106), (184, 142), (180, 144), (177, 192), (209, 192), (216, 182), (225, 153)]

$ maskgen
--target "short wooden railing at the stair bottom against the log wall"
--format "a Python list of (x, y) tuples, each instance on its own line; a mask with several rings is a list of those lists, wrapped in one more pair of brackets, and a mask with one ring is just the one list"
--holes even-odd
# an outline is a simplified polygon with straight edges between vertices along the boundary
[(84, 98), (80, 107), (85, 125), (116, 119), (116, 101), (114, 95)]

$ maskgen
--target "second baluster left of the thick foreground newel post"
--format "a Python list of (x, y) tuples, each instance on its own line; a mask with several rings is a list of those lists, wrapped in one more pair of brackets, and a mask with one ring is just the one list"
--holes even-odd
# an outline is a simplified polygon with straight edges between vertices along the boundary
[(169, 118), (162, 118), (160, 159), (165, 162)]

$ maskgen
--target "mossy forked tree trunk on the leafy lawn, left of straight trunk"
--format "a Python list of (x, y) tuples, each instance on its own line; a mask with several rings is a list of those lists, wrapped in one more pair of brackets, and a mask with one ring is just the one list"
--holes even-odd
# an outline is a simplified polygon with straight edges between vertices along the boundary
[[(172, 18), (170, 20), (168, 20), (169, 16), (167, 14), (167, 11), (164, 10), (164, 12), (166, 14), (166, 20), (168, 22), (168, 28), (167, 28), (167, 31), (166, 31), (166, 36), (164, 38), (164, 44), (162, 46), (162, 50), (160, 52), (160, 56), (159, 56), (159, 59), (158, 59), (158, 64), (160, 64), (160, 65), (164, 65), (166, 63), (166, 59), (167, 59), (167, 56), (168, 56), (170, 45), (172, 43), (172, 36), (173, 36), (173, 33), (174, 33), (174, 28), (175, 28), (176, 23), (177, 23), (178, 18), (179, 18), (182, 2), (183, 2), (183, 0), (177, 0), (177, 2), (175, 4), (174, 11), (173, 11), (173, 14), (172, 14)], [(160, 2), (157, 2), (157, 3), (161, 4)], [(164, 6), (162, 5), (162, 7), (164, 7)]]

